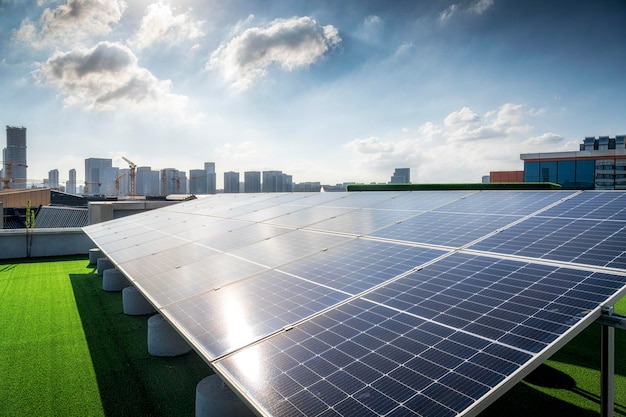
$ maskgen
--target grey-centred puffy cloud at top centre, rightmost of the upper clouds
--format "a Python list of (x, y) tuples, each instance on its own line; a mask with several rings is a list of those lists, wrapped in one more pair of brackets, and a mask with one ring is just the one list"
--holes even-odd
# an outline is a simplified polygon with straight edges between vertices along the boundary
[(286, 71), (315, 63), (341, 41), (332, 25), (310, 17), (279, 19), (268, 27), (246, 29), (213, 52), (207, 69), (219, 69), (233, 87), (243, 90), (277, 65)]

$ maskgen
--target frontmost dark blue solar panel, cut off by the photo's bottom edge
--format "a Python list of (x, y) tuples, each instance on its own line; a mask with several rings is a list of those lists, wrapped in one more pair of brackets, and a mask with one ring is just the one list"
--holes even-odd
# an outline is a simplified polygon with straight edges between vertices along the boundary
[[(360, 322), (371, 323), (369, 332), (382, 339), (364, 334)], [(457, 343), (462, 357), (437, 347), (457, 337), (464, 343)], [(530, 357), (506, 346), (490, 351), (480, 338), (355, 300), (224, 358), (216, 367), (252, 398), (262, 398), (256, 405), (268, 415), (333, 410), (340, 415), (456, 415)], [(250, 363), (257, 365), (251, 370)]]

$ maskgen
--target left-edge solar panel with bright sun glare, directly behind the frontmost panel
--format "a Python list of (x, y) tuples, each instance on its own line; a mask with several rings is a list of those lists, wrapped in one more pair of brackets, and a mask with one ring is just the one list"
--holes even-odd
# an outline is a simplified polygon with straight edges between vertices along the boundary
[(349, 298), (349, 294), (269, 271), (163, 310), (214, 359)]

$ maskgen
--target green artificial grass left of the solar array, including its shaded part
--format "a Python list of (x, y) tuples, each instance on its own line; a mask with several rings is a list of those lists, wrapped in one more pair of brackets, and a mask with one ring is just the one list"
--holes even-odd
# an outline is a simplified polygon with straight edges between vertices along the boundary
[(192, 416), (212, 372), (194, 352), (148, 354), (87, 258), (0, 264), (0, 416)]

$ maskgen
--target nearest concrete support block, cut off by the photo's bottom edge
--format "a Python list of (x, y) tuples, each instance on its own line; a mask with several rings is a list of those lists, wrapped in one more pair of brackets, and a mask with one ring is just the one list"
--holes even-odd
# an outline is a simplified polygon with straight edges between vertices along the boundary
[(196, 385), (196, 417), (253, 417), (254, 413), (219, 376), (207, 376)]

